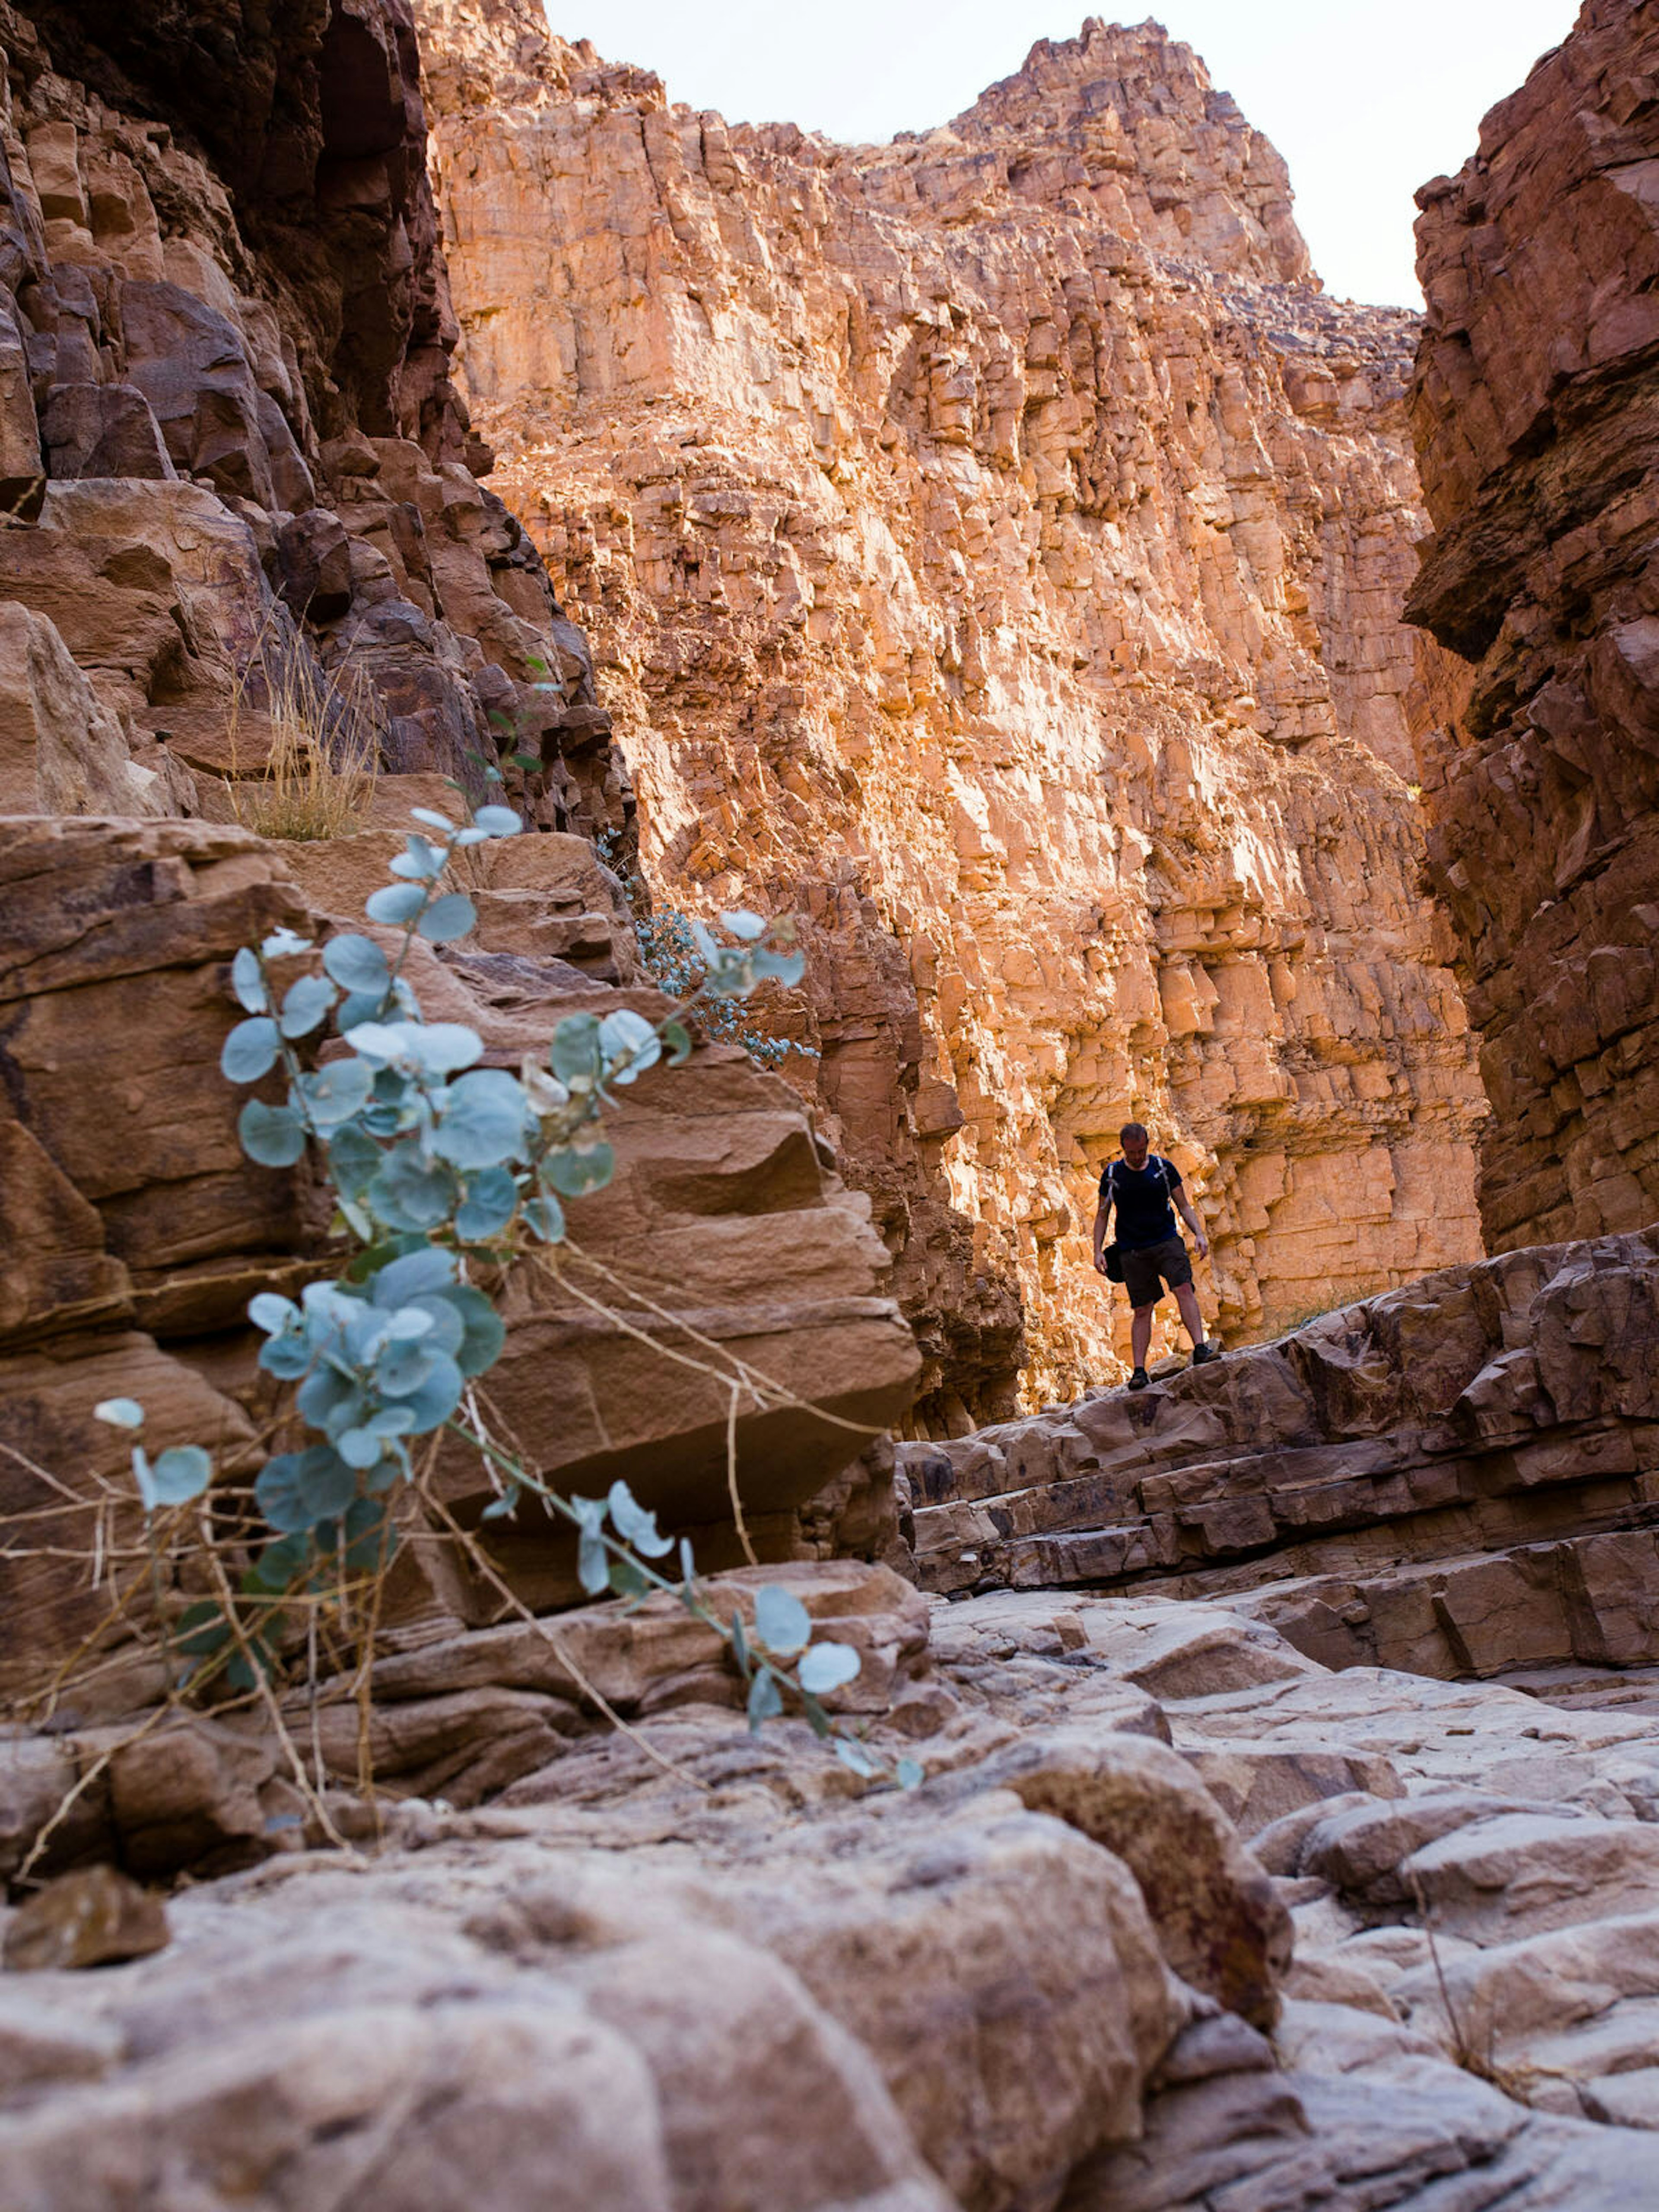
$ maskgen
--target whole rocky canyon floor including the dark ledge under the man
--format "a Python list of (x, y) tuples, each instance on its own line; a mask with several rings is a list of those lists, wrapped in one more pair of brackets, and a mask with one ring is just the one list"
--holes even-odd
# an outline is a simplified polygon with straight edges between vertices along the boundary
[(1604, 1239), (905, 1447), (975, 1595), (719, 1588), (860, 1650), (916, 1790), (750, 1736), (661, 1601), (383, 1657), (378, 1843), (294, 1703), (356, 1849), (257, 1717), (13, 1736), (13, 1867), (104, 1754), (69, 1856), (204, 1878), (97, 1971), (82, 1876), (7, 1916), (7, 2205), (1652, 2201), (1657, 1352)]

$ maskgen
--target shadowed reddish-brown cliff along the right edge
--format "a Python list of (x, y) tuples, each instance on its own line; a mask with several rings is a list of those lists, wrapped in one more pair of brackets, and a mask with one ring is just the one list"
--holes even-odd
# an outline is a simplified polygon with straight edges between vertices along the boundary
[(1590, 0), (1418, 195), (1409, 617), (1493, 1248), (1659, 1214), (1659, 11)]

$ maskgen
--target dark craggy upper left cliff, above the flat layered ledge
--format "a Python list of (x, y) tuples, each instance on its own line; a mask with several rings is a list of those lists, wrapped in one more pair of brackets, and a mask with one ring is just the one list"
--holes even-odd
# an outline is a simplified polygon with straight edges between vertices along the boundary
[(380, 768), (538, 754), (531, 816), (626, 845), (582, 635), (467, 467), (407, 9), (46, 0), (0, 46), (0, 805), (226, 818), (276, 653), (352, 670)]

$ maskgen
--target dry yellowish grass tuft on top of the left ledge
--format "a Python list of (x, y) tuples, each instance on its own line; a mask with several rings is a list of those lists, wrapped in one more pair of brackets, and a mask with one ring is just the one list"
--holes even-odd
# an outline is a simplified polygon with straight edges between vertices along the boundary
[[(257, 776), (237, 770), (252, 714), (270, 719)], [(369, 818), (385, 710), (356, 668), (327, 672), (281, 611), (272, 611), (230, 697), (230, 807), (243, 830), (272, 838), (352, 836)]]

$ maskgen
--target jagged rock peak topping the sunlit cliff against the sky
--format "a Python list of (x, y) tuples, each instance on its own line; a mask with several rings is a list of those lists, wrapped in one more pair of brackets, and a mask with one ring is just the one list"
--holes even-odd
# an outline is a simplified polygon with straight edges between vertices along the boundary
[(1279, 150), (1161, 22), (1091, 15), (1077, 38), (1040, 38), (951, 128), (1006, 150), (1015, 190), (1126, 204), (1161, 252), (1267, 283), (1314, 276)]

